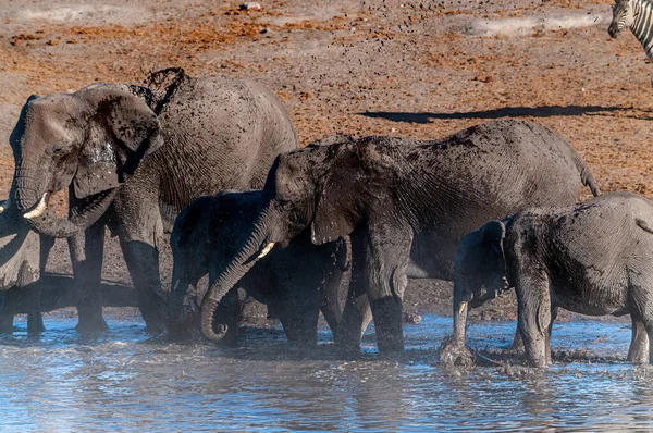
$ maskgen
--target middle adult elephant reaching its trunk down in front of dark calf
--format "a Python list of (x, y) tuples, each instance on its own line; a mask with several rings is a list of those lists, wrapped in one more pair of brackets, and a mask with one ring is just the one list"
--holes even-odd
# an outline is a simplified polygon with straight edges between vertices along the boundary
[(569, 143), (521, 121), (490, 122), (434, 141), (367, 137), (281, 154), (248, 238), (204, 299), (202, 332), (222, 337), (224, 330), (212, 326), (222, 297), (271, 243), (308, 227), (316, 245), (350, 235), (338, 346), (358, 351), (371, 307), (379, 350), (403, 350), (407, 277), (452, 280), (465, 234), (526, 207), (574, 203), (581, 181), (597, 194)]

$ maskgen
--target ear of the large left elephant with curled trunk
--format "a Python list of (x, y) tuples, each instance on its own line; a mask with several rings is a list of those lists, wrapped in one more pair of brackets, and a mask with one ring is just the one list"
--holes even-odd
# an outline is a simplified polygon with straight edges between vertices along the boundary
[(74, 178), (85, 198), (118, 187), (162, 144), (161, 125), (145, 101), (110, 87), (86, 89), (97, 111), (90, 116)]

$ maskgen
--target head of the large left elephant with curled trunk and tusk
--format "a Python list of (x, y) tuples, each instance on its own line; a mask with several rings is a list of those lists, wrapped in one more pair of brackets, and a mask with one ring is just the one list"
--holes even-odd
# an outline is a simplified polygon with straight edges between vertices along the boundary
[[(157, 115), (128, 86), (32, 96), (10, 136), (11, 198), (38, 232), (70, 236), (104, 212), (116, 187), (162, 143)], [(69, 218), (57, 216), (47, 209), (48, 198), (71, 185), (75, 206)]]

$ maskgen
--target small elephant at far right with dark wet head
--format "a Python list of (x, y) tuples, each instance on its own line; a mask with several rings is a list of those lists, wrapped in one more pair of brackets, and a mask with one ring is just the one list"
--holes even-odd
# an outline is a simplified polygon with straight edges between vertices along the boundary
[(551, 363), (557, 308), (591, 316), (630, 313), (628, 360), (653, 351), (653, 202), (612, 193), (555, 209), (527, 209), (490, 221), (458, 246), (454, 342), (465, 342), (467, 305), (515, 287), (529, 363)]

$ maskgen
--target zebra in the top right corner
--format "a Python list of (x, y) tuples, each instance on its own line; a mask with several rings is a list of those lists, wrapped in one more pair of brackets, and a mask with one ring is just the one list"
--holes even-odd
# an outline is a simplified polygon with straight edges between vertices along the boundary
[[(615, 0), (613, 21), (607, 27), (607, 33), (612, 38), (616, 38), (625, 27), (630, 27), (634, 37), (644, 47), (646, 57), (653, 61), (653, 2)], [(651, 86), (653, 86), (653, 76)]]

